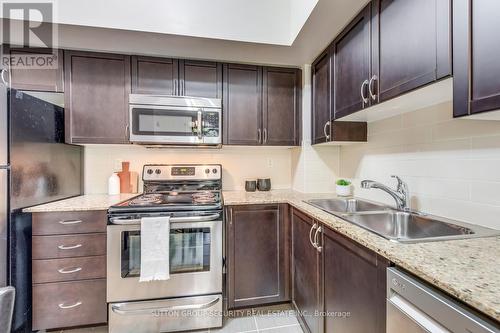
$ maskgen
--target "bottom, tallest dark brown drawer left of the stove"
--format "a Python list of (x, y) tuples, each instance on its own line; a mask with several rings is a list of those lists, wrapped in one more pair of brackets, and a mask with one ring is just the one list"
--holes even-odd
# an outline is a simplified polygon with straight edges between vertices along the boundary
[(106, 280), (33, 285), (33, 330), (105, 323)]

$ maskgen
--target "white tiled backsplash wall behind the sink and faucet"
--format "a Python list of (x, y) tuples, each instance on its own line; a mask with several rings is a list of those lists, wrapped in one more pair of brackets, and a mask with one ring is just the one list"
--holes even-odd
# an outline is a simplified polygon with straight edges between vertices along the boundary
[(359, 181), (408, 182), (412, 208), (500, 229), (500, 122), (453, 119), (451, 103), (370, 123), (368, 143), (342, 147), (355, 194), (393, 204)]

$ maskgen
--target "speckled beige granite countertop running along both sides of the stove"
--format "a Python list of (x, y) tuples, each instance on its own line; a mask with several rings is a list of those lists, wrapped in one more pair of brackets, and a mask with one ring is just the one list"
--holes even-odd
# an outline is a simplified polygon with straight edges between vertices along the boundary
[[(24, 212), (104, 210), (135, 194), (83, 195), (27, 208)], [(225, 205), (288, 203), (384, 256), (396, 265), (500, 321), (500, 237), (399, 244), (346, 222), (304, 200), (334, 194), (304, 194), (292, 190), (270, 192), (224, 191)]]

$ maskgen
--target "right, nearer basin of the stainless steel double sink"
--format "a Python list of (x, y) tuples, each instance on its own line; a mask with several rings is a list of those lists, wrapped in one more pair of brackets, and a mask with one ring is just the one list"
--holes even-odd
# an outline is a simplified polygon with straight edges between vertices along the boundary
[(466, 226), (437, 220), (415, 213), (391, 211), (378, 214), (355, 214), (346, 219), (387, 239), (399, 242), (467, 238), (476, 232)]

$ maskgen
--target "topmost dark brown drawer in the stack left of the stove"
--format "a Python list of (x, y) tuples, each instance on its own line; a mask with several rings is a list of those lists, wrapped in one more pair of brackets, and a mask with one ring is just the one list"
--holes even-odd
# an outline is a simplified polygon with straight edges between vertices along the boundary
[(106, 232), (107, 212), (76, 211), (33, 213), (33, 235), (65, 235)]

